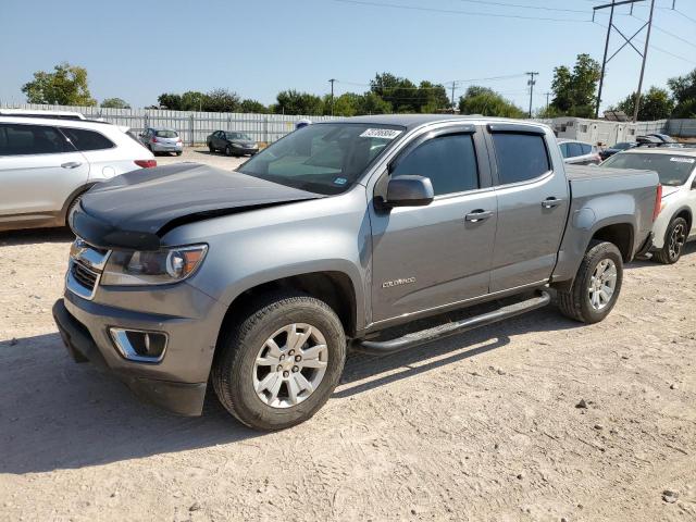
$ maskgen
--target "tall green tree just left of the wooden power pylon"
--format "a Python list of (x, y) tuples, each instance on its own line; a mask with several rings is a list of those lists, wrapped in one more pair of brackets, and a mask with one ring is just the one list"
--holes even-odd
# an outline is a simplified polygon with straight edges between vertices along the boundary
[(589, 54), (577, 54), (572, 72), (566, 65), (556, 67), (551, 83), (554, 109), (568, 116), (593, 117), (600, 75), (599, 63)]

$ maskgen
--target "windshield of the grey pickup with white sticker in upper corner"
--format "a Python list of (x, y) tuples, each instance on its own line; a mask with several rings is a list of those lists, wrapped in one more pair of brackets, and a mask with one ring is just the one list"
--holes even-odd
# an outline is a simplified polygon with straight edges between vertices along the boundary
[(271, 145), (238, 171), (302, 190), (340, 194), (403, 130), (396, 125), (309, 125)]

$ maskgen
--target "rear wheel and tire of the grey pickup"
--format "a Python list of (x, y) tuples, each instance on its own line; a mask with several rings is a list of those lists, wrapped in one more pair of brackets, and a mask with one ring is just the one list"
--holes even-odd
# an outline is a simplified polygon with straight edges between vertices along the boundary
[[(599, 266), (600, 263), (602, 266)], [(600, 279), (597, 281), (595, 275)], [(617, 246), (608, 241), (593, 240), (580, 264), (573, 286), (567, 291), (558, 291), (558, 308), (563, 315), (575, 321), (598, 323), (609, 315), (617, 303), (622, 282), (623, 258)], [(595, 283), (597, 286), (594, 286)], [(602, 296), (607, 296), (609, 290), (611, 293), (608, 299), (605, 299)], [(593, 298), (596, 299), (594, 302)]]

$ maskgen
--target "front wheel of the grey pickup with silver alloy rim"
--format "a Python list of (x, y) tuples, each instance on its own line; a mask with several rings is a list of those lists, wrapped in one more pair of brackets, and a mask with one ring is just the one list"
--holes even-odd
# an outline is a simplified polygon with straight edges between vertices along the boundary
[[(295, 347), (293, 356), (293, 347), (287, 343), (290, 334), (285, 330), (289, 330), (289, 325), (297, 327), (290, 332), (310, 335), (301, 346)], [(276, 350), (266, 339), (276, 341)], [(322, 356), (297, 362), (308, 366), (294, 366), (297, 357), (301, 359), (310, 349), (318, 352), (316, 347), (322, 346), (325, 346), (320, 350)], [(275, 431), (307, 421), (328, 400), (344, 369), (346, 337), (340, 320), (328, 304), (303, 294), (283, 293), (266, 296), (249, 307), (236, 324), (223, 332), (217, 350), (211, 381), (222, 405), (251, 428)], [(257, 365), (258, 360), (273, 362)], [(296, 378), (303, 378), (315, 387), (313, 391), (296, 387), (293, 400), (290, 381), (297, 383)], [(272, 384), (264, 388), (266, 382)]]

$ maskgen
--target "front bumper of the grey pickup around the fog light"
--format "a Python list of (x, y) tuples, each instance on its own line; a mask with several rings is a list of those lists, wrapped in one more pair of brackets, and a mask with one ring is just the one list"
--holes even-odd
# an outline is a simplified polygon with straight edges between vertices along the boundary
[[(67, 351), (76, 362), (92, 362), (101, 371), (113, 373), (141, 400), (182, 415), (200, 415), (212, 363), (213, 347), (196, 346), (192, 338), (204, 338), (194, 322), (94, 303), (70, 291), (53, 306), (53, 319)], [(182, 341), (167, 347), (160, 364), (124, 359), (116, 350), (110, 326), (166, 332)], [(201, 337), (203, 336), (203, 337)], [(182, 350), (184, 347), (186, 350)], [(185, 378), (191, 374), (199, 382)], [(184, 377), (184, 378), (182, 378)], [(202, 378), (201, 378), (202, 377)], [(196, 380), (194, 380), (196, 381)]]

